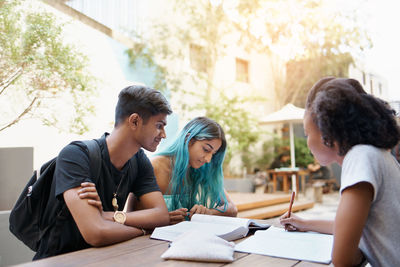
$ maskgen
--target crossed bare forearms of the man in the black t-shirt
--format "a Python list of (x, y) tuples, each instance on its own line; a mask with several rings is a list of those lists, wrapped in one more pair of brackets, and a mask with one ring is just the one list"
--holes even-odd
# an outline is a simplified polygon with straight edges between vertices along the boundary
[(127, 213), (125, 224), (113, 220), (113, 212), (102, 211), (101, 201), (92, 183), (69, 189), (63, 194), (85, 241), (92, 246), (104, 246), (143, 235), (141, 229), (152, 229), (169, 223), (168, 210), (160, 192), (141, 196), (144, 207)]

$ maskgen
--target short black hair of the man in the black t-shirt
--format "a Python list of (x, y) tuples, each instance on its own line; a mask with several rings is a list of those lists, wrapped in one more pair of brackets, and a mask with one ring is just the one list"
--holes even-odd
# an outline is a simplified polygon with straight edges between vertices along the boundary
[(167, 99), (161, 92), (143, 85), (132, 85), (121, 90), (115, 108), (115, 126), (133, 113), (139, 114), (146, 123), (151, 116), (171, 114)]

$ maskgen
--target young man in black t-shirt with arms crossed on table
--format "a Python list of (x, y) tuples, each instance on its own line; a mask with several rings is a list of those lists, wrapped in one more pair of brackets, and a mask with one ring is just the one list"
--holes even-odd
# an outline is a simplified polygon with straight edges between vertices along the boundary
[[(101, 151), (99, 177), (91, 177), (84, 143), (72, 142), (60, 152), (49, 202), (60, 209), (34, 259), (125, 241), (169, 223), (153, 168), (141, 149), (154, 152), (166, 137), (169, 104), (154, 89), (129, 86), (120, 92), (115, 113), (111, 134), (95, 140)], [(143, 210), (122, 211), (129, 193)], [(90, 204), (96, 199), (98, 208)]]

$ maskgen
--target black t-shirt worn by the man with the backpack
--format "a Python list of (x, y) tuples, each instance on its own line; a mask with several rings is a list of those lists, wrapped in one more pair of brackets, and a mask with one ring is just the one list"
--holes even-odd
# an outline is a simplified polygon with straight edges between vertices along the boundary
[[(111, 202), (120, 183), (117, 191), (119, 210), (124, 208), (130, 192), (140, 198), (143, 194), (160, 190), (154, 176), (153, 167), (142, 149), (124, 165), (122, 170), (118, 170), (112, 165), (105, 139), (107, 135), (106, 133), (96, 140), (100, 146), (102, 157), (100, 175), (97, 180), (91, 177), (90, 160), (84, 143), (80, 141), (72, 142), (57, 157), (50, 203), (59, 205), (59, 215), (55, 225), (41, 239), (34, 259), (90, 247), (83, 239), (66, 208), (63, 198), (65, 191), (80, 186), (82, 182), (93, 182), (96, 184), (103, 210), (114, 211)], [(60, 231), (60, 229), (62, 230)]]

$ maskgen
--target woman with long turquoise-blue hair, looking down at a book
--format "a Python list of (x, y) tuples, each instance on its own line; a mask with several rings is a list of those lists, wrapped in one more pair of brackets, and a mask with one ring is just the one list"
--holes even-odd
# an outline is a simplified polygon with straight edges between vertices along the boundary
[(236, 216), (237, 208), (223, 187), (225, 150), (221, 126), (209, 118), (197, 117), (151, 160), (171, 224), (195, 213)]

